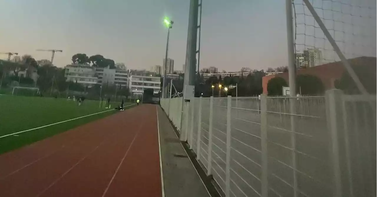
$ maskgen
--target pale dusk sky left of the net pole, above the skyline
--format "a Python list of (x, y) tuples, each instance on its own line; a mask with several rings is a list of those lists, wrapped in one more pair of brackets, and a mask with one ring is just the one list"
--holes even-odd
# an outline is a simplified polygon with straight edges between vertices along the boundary
[[(285, 9), (280, 9), (284, 5), (279, 0), (204, 0), (200, 67), (262, 70), (287, 65)], [(0, 23), (6, 24), (0, 52), (50, 60), (51, 52), (36, 49), (60, 49), (63, 52), (54, 58), (57, 67), (85, 53), (103, 55), (130, 69), (148, 69), (165, 57), (163, 18), (168, 16), (174, 21), (168, 58), (177, 65), (185, 63), (189, 1), (12, 0), (2, 7), (7, 9), (0, 12)]]

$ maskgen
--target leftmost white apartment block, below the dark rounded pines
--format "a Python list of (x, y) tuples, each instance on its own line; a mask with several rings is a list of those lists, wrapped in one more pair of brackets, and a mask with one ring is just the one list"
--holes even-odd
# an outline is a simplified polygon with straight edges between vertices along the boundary
[(65, 77), (67, 81), (77, 82), (86, 87), (92, 87), (98, 83), (95, 67), (89, 64), (67, 65), (65, 67)]

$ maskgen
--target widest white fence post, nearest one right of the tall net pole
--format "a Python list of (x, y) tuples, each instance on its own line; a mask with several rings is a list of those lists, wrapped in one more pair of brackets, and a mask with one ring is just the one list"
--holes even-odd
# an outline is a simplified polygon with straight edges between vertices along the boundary
[(342, 197), (342, 177), (340, 171), (340, 156), (339, 156), (339, 113), (337, 109), (341, 104), (342, 90), (328, 90), (326, 91), (326, 115), (327, 124), (331, 135), (331, 158), (333, 159), (333, 173), (334, 173), (334, 197)]

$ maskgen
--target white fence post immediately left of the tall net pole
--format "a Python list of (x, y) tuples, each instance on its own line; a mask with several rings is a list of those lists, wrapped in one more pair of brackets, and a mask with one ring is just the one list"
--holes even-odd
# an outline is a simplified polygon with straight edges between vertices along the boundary
[[(267, 95), (261, 95), (262, 197), (268, 197)], [(258, 99), (259, 108), (259, 99)], [(259, 110), (259, 109), (258, 109)]]

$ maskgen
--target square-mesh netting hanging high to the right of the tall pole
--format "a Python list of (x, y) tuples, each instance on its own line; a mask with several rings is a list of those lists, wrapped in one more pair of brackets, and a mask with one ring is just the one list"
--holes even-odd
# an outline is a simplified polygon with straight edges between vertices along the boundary
[[(377, 56), (377, 0), (308, 0), (347, 59)], [(294, 0), (296, 67), (340, 61), (304, 0)]]

